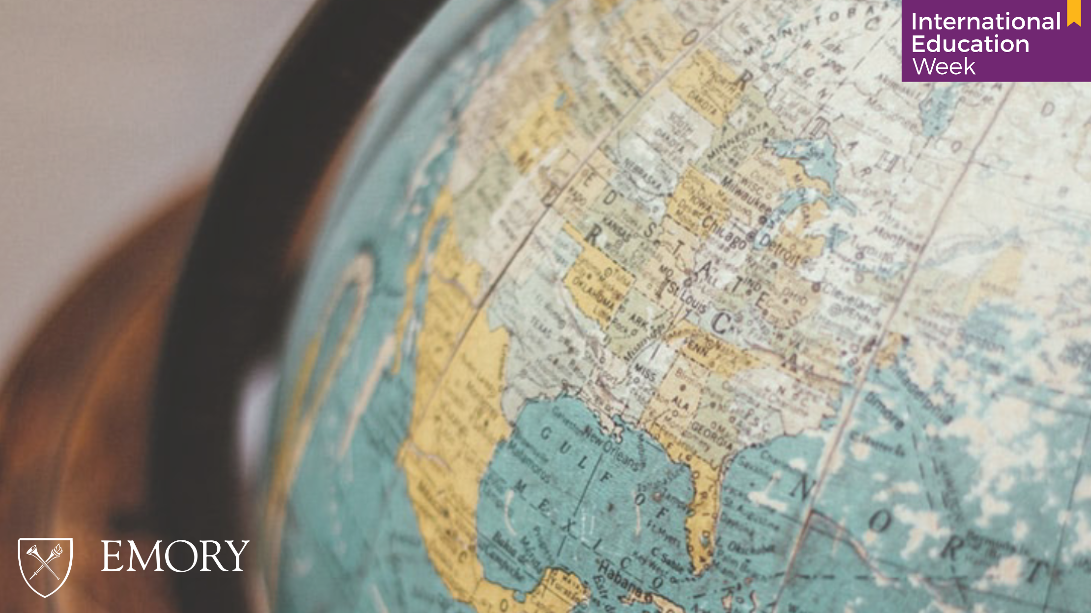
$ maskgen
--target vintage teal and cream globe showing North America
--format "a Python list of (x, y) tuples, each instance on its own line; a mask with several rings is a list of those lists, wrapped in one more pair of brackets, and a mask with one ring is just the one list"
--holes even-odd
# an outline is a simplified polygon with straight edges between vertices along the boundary
[(1091, 88), (900, 19), (446, 2), (296, 302), (269, 608), (1088, 611)]

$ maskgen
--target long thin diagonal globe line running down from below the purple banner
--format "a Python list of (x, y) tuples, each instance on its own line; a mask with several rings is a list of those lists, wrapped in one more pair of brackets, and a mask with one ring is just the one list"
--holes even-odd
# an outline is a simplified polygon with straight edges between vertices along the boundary
[[(1000, 112), (1004, 110), (1004, 107), (1007, 105), (1008, 99), (1011, 97), (1011, 93), (1015, 92), (1017, 86), (1018, 84), (1014, 83), (1011, 87), (1009, 87), (1008, 91), (1004, 93), (1004, 97), (1000, 99), (999, 104), (996, 105), (996, 111), (993, 113), (993, 117), (990, 118), (988, 123), (982, 131), (981, 137), (978, 140), (976, 144), (974, 144), (973, 149), (970, 152), (970, 156), (967, 158), (966, 164), (963, 164), (962, 171), (959, 173), (958, 178), (955, 180), (955, 183), (951, 185), (951, 189), (948, 192), (947, 197), (944, 199), (944, 203), (943, 205), (940, 205), (939, 212), (936, 214), (936, 218), (932, 223), (932, 228), (922, 243), (921, 254), (916, 257), (916, 260), (913, 261), (913, 264), (909, 269), (909, 274), (907, 275), (906, 284), (902, 286), (901, 292), (899, 292), (898, 295), (898, 299), (895, 301), (894, 306), (890, 309), (890, 314), (887, 316), (886, 322), (883, 324), (883, 327), (878, 332), (879, 339), (886, 337), (888, 330), (890, 329), (890, 325), (894, 323), (895, 317), (897, 317), (901, 312), (902, 304), (904, 303), (906, 298), (909, 295), (909, 289), (913, 285), (913, 279), (916, 277), (916, 272), (920, 268), (921, 261), (924, 260), (924, 256), (928, 251), (928, 247), (932, 244), (932, 240), (935, 238), (936, 231), (939, 229), (939, 223), (943, 220), (944, 214), (950, 207), (951, 202), (955, 200), (955, 195), (958, 193), (959, 188), (962, 185), (962, 181), (966, 179), (966, 176), (969, 175), (970, 168), (974, 164), (976, 164), (975, 160), (978, 157), (978, 151), (981, 148), (981, 145), (984, 144), (984, 142), (988, 139), (988, 135), (993, 131), (993, 127), (996, 124), (996, 119), (1000, 116)], [(867, 383), (867, 376), (875, 368), (875, 362), (877, 361), (879, 354), (879, 348), (880, 347), (878, 346), (878, 344), (876, 344), (876, 347), (872, 349), (871, 357), (867, 359), (867, 365), (861, 371), (860, 382), (854, 384), (853, 386), (854, 388), (852, 390), (852, 398), (846, 406), (844, 417), (841, 418), (840, 423), (838, 424), (837, 433), (834, 435), (834, 438), (830, 442), (829, 449), (826, 452), (826, 454), (824, 454), (823, 461), (820, 465), (822, 469), (819, 470), (818, 474), (818, 480), (815, 482), (815, 491), (813, 497), (811, 498), (811, 502), (807, 503), (806, 510), (804, 512), (803, 526), (800, 528), (800, 532), (795, 538), (795, 543), (792, 546), (792, 553), (789, 556), (788, 566), (784, 569), (784, 577), (783, 579), (781, 579), (780, 582), (780, 589), (777, 590), (777, 597), (776, 600), (774, 600), (771, 613), (777, 613), (777, 609), (780, 605), (780, 599), (788, 587), (788, 582), (792, 574), (792, 568), (794, 567), (796, 557), (799, 556), (800, 550), (802, 549), (803, 541), (806, 537), (806, 532), (811, 527), (811, 519), (814, 513), (815, 502), (822, 495), (823, 485), (826, 482), (826, 477), (829, 472), (830, 465), (832, 464), (834, 455), (838, 452), (838, 448), (840, 447), (841, 444), (841, 440), (844, 436), (844, 431), (848, 428), (850, 420), (852, 419), (852, 414), (855, 411), (855, 408), (860, 404), (861, 392), (863, 390), (864, 386)]]

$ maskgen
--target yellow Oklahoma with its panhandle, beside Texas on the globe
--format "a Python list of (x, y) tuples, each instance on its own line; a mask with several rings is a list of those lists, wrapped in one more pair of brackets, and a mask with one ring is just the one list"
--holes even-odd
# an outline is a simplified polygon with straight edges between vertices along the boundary
[(565, 231), (582, 251), (564, 276), (564, 287), (572, 292), (576, 306), (606, 329), (633, 285), (633, 274), (585, 241), (571, 225), (565, 225)]

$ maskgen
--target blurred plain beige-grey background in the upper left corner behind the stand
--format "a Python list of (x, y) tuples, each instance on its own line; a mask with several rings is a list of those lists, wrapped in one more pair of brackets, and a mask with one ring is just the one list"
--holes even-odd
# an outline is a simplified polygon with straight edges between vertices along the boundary
[(113, 240), (215, 166), (311, 0), (0, 0), (0, 373)]

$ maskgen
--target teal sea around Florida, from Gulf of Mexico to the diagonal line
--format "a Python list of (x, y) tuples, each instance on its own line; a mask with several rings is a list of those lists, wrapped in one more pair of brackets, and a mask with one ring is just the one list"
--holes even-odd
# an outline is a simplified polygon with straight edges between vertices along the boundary
[[(779, 437), (734, 458), (721, 491), (712, 566), (695, 575), (685, 544), (690, 469), (624, 422), (606, 434), (582, 400), (527, 404), (481, 481), (478, 556), (485, 577), (526, 593), (548, 568), (578, 576), (591, 598), (577, 611), (648, 610), (655, 593), (687, 612), (723, 599), (769, 603), (800, 530), (820, 440)], [(758, 504), (762, 492), (778, 509)], [(636, 594), (636, 598), (634, 598)], [(628, 601), (628, 602), (626, 602)]]

